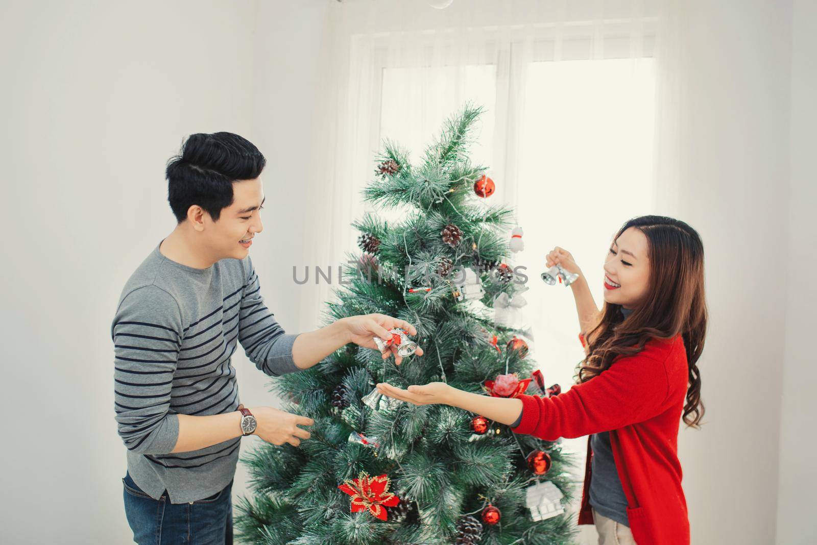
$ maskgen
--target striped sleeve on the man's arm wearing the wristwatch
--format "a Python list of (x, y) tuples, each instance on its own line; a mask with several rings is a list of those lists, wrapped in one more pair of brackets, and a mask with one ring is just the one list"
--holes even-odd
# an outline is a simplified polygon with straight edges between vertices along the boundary
[(157, 286), (127, 294), (114, 317), (114, 401), (119, 436), (139, 454), (169, 454), (179, 418), (168, 414), (181, 348), (181, 310)]

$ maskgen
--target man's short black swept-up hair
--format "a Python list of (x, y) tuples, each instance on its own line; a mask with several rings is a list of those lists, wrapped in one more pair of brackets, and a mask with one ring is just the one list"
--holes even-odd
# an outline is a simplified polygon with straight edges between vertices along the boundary
[(190, 206), (207, 210), (213, 221), (233, 204), (233, 183), (255, 179), (266, 159), (252, 142), (231, 132), (190, 135), (167, 162), (167, 202), (181, 224)]

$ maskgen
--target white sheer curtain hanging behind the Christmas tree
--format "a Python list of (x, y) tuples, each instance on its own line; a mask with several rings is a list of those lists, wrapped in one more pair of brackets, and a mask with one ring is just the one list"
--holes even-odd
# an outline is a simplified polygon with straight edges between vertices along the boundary
[[(576, 228), (562, 225), (578, 221), (584, 232), (598, 211), (611, 210), (601, 223), (612, 232), (653, 204), (645, 146), (652, 145), (654, 2), (458, 0), (444, 10), (425, 0), (331, 3), (306, 264), (337, 264), (354, 250), (348, 224), (371, 211), (359, 192), (373, 177), (382, 139), (416, 154), (467, 100), (486, 108), (472, 157), (498, 182), (493, 200), (520, 207), (525, 256), (569, 246)], [(609, 104), (619, 104), (616, 112)], [(630, 195), (632, 206), (622, 210), (614, 196), (627, 192), (638, 197)], [(577, 218), (573, 200), (587, 214)], [(536, 254), (542, 231), (553, 234)], [(596, 245), (594, 260), (605, 244)], [(309, 290), (307, 321), (330, 291), (325, 284)]]

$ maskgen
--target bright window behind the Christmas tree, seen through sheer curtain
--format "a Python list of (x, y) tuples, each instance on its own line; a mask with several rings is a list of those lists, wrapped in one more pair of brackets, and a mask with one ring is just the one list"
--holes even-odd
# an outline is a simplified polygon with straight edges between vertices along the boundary
[[(609, 58), (627, 51), (628, 39), (607, 39), (600, 58), (591, 58), (591, 41), (565, 40), (559, 61), (538, 43), (524, 61), (509, 44), (484, 64), (380, 67), (378, 141), (403, 144), (415, 159), (466, 100), (486, 107), (471, 157), (497, 182), (492, 198), (516, 207), (525, 251), (511, 263), (528, 268), (530, 287), (519, 325), (532, 326), (532, 357), (563, 390), (583, 350), (572, 293), (539, 278), (544, 256), (553, 246), (571, 251), (600, 306), (612, 235), (654, 207), (655, 66), (649, 56)], [(578, 481), (586, 448), (584, 439), (565, 440)]]

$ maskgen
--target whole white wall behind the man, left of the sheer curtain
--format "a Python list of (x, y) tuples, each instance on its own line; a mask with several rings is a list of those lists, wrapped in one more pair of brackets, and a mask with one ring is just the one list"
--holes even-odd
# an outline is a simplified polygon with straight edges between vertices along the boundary
[[(253, 255), (270, 307), (297, 326), (277, 256), (301, 244), (301, 118), (324, 4), (0, 4), (0, 542), (132, 543), (109, 326), (124, 281), (173, 228), (163, 169), (185, 135), (233, 131), (266, 153)], [(234, 363), (257, 404), (266, 377), (243, 353)]]

